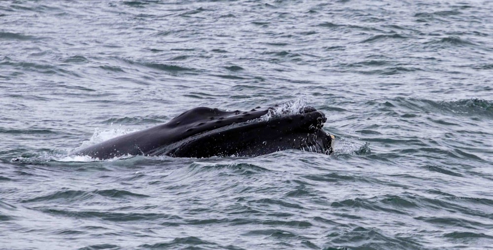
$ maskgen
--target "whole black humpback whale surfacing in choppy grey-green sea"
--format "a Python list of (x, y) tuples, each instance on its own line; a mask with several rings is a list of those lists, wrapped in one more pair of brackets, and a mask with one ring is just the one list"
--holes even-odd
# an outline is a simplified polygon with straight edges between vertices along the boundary
[(327, 118), (314, 107), (296, 112), (279, 106), (249, 111), (196, 107), (169, 122), (76, 150), (105, 160), (125, 156), (250, 157), (287, 149), (332, 154), (334, 136), (322, 130)]

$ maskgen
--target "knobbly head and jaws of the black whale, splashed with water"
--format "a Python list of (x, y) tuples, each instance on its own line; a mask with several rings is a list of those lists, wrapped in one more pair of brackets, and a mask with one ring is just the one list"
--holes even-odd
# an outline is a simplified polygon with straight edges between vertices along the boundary
[(257, 156), (286, 149), (332, 154), (334, 136), (322, 130), (327, 120), (313, 107), (296, 113), (276, 108), (250, 111), (223, 111), (199, 107), (170, 121), (192, 132), (182, 140), (160, 148), (152, 154), (175, 157)]

